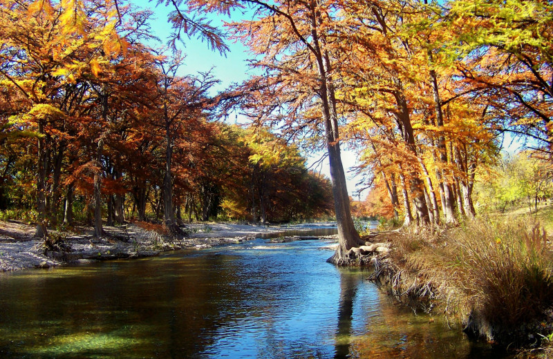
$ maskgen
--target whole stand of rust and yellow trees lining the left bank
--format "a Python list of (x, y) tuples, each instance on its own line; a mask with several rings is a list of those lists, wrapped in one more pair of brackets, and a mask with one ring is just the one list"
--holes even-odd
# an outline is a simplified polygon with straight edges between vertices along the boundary
[(97, 236), (102, 217), (111, 225), (129, 213), (172, 231), (185, 215), (223, 209), (263, 222), (331, 213), (328, 179), (297, 148), (218, 121), (232, 95), (210, 95), (209, 73), (179, 75), (180, 52), (144, 45), (151, 12), (95, 0), (1, 4), (0, 206), (34, 208), (37, 236), (71, 224), (75, 208)]

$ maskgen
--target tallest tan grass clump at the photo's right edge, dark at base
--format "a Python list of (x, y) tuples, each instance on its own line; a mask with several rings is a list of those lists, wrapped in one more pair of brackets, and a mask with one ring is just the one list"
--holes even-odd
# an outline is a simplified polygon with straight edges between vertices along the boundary
[(470, 330), (509, 338), (513, 328), (540, 319), (553, 300), (553, 265), (545, 231), (524, 222), (478, 222), (453, 236)]

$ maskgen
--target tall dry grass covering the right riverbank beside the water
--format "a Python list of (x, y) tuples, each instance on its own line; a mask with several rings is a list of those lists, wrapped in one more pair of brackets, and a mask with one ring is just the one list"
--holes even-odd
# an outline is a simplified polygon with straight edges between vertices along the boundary
[(395, 295), (425, 298), (459, 316), (465, 331), (500, 344), (547, 336), (553, 255), (529, 220), (479, 220), (442, 232), (404, 231), (374, 277)]

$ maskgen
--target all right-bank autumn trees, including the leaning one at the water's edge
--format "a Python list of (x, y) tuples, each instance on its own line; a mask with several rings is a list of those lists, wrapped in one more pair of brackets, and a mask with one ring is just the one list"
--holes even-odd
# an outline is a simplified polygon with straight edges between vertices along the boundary
[(340, 141), (362, 156), (404, 224), (473, 217), (476, 173), (505, 131), (547, 156), (552, 141), (550, 1), (195, 0), (229, 13), (259, 74), (242, 107), (290, 138), (328, 150), (341, 245), (361, 243), (350, 217)]

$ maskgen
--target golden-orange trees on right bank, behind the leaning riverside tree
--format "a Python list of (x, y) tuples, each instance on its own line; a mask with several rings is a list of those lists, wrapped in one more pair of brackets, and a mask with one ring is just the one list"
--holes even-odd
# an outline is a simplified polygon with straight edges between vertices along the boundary
[(363, 166), (377, 177), (375, 205), (387, 193), (404, 224), (454, 224), (476, 214), (475, 178), (498, 159), (501, 133), (532, 137), (550, 158), (550, 10), (462, 0), (352, 10), (359, 41), (349, 53), (359, 66), (343, 99)]

